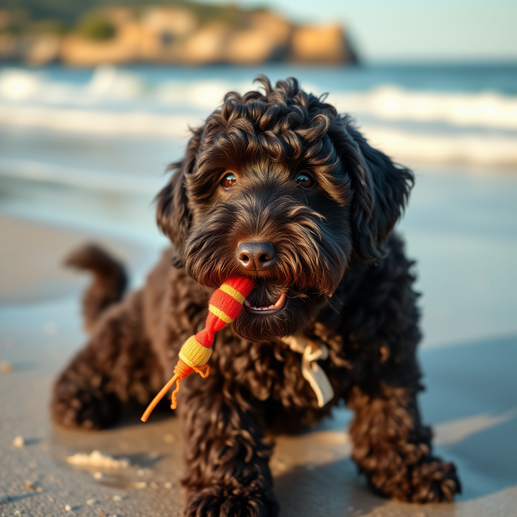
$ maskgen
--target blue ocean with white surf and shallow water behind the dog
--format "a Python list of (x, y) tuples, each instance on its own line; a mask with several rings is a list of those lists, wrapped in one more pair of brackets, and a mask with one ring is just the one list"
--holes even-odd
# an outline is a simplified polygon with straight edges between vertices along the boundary
[[(166, 246), (153, 199), (229, 90), (296, 77), (417, 176), (425, 342), (517, 331), (517, 65), (0, 68), (0, 215)], [(499, 250), (494, 253), (494, 249)], [(497, 257), (497, 267), (486, 264)]]

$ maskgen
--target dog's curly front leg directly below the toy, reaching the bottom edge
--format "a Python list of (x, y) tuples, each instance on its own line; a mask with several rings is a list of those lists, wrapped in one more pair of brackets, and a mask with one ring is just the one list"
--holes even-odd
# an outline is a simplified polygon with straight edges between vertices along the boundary
[(278, 514), (270, 446), (250, 394), (212, 368), (189, 378), (178, 398), (185, 438), (188, 517)]

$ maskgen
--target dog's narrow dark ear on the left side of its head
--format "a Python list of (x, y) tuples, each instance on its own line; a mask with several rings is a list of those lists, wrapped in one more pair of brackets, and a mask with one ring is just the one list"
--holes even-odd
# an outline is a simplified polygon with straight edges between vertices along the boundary
[(176, 267), (183, 266), (183, 243), (191, 221), (185, 179), (194, 167), (201, 138), (200, 130), (193, 132), (185, 157), (169, 166), (168, 170), (175, 172), (169, 183), (156, 196), (156, 221), (161, 231), (172, 241), (175, 251), (172, 262)]

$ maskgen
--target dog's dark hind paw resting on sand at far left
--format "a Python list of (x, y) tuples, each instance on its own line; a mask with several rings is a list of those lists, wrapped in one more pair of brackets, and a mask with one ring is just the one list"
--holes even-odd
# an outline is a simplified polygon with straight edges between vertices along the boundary
[(60, 379), (54, 388), (52, 419), (65, 427), (101, 429), (117, 419), (119, 406), (113, 393)]

